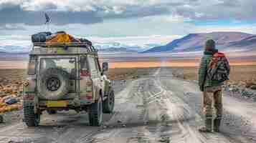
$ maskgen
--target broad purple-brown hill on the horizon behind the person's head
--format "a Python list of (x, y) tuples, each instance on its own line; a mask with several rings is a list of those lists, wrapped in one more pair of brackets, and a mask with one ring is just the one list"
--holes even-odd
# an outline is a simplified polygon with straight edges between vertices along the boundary
[(246, 49), (256, 47), (256, 35), (241, 32), (213, 32), (208, 34), (188, 34), (181, 39), (175, 39), (164, 46), (155, 46), (142, 53), (200, 51), (204, 49), (204, 42), (214, 39), (217, 49)]

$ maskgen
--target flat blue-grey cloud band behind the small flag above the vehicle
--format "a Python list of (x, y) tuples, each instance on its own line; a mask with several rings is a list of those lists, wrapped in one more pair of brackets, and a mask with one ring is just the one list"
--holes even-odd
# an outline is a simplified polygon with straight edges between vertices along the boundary
[[(92, 11), (49, 11), (52, 24), (93, 24), (103, 21)], [(44, 24), (43, 11), (24, 11), (20, 6), (5, 6), (0, 9), (0, 25), (6, 24), (26, 24), (41, 25)]]

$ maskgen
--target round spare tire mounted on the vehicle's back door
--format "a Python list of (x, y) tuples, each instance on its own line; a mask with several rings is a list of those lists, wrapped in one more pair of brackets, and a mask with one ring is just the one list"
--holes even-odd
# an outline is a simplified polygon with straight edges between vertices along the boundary
[(49, 68), (39, 74), (38, 92), (44, 99), (62, 99), (68, 92), (70, 74), (63, 69)]

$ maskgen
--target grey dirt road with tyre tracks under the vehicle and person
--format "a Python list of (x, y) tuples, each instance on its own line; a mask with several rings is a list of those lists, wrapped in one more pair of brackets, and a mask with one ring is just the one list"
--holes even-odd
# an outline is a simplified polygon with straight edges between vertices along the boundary
[(171, 69), (159, 68), (150, 77), (123, 86), (115, 93), (115, 112), (104, 114), (102, 127), (90, 127), (85, 113), (45, 113), (39, 127), (23, 122), (1, 127), (0, 142), (256, 142), (253, 102), (225, 95), (222, 132), (200, 134), (202, 95), (195, 83), (174, 78)]

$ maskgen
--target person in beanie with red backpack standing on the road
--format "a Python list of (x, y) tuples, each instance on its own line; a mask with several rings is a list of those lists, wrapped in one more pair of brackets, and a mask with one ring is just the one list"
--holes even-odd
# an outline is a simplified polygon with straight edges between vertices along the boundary
[[(205, 117), (205, 127), (200, 128), (199, 132), (212, 132), (212, 125), (214, 132), (219, 132), (222, 120), (222, 85), (229, 79), (229, 71), (229, 62), (224, 54), (215, 48), (215, 41), (207, 40), (199, 67), (199, 87), (203, 92)], [(213, 115), (212, 102), (216, 116)]]

